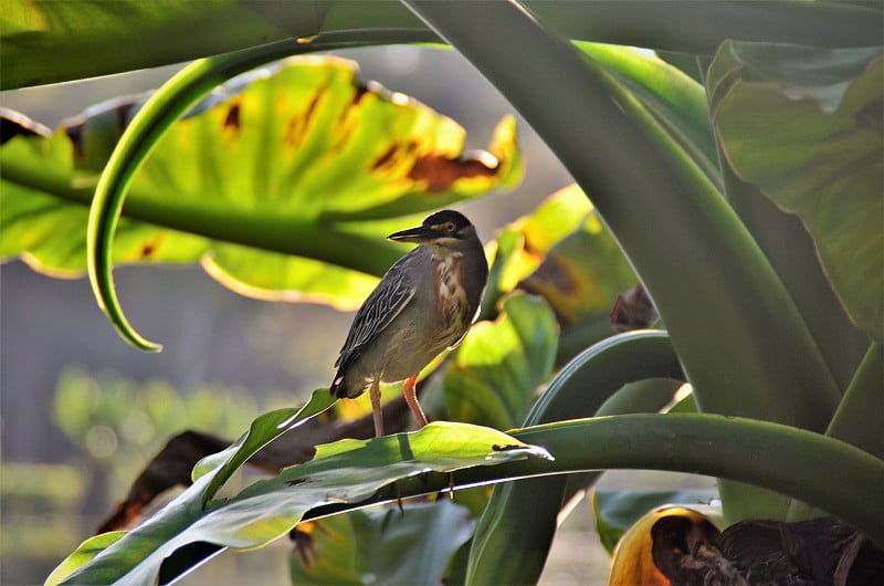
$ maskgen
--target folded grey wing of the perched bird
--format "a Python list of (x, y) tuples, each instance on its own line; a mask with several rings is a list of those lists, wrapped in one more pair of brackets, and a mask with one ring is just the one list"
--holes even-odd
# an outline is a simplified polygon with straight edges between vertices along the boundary
[[(406, 259), (402, 259), (404, 261)], [(414, 297), (417, 287), (409, 284), (406, 262), (396, 263), (383, 276), (380, 285), (371, 292), (362, 306), (356, 312), (350, 333), (335, 363), (344, 366), (359, 355), (359, 350), (370, 344), (408, 306)]]

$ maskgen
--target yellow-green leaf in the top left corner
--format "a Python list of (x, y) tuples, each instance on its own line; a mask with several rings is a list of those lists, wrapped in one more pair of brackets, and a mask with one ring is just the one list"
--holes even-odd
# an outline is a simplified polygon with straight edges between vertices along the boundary
[[(242, 4), (227, 0), (212, 4), (9, 2), (0, 35), (14, 50), (3, 51), (2, 67), (10, 75), (3, 88), (176, 63), (211, 54), (219, 46), (235, 51), (285, 36)], [(301, 4), (290, 15), (286, 25), (295, 36), (314, 34), (322, 22), (313, 2)], [(235, 25), (227, 25), (231, 23)], [(110, 56), (112, 50), (113, 59), (96, 59)]]

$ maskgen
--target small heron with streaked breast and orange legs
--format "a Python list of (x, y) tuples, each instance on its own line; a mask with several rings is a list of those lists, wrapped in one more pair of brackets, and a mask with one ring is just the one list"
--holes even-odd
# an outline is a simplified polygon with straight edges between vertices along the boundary
[(444, 349), (456, 347), (478, 316), (488, 263), (475, 227), (454, 210), (387, 237), (418, 244), (399, 259), (356, 312), (335, 362), (330, 391), (371, 398), (375, 436), (383, 436), (380, 385), (404, 380), (403, 395), (418, 427), (418, 375)]

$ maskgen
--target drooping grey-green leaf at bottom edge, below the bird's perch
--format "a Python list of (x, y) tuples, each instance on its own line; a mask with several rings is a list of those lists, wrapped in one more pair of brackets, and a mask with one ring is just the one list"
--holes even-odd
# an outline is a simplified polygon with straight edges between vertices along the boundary
[(441, 584), (472, 535), (469, 511), (444, 499), (404, 515), (352, 511), (313, 524), (309, 545), (292, 555), (292, 584)]

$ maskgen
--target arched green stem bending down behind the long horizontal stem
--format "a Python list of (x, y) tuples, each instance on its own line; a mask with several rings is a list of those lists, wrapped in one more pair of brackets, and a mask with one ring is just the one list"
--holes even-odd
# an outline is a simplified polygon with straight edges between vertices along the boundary
[[(672, 399), (672, 387), (623, 387), (651, 378), (683, 380), (678, 357), (664, 332), (633, 332), (604, 339), (568, 363), (535, 402), (525, 426), (596, 415), (617, 402), (614, 412), (657, 411)], [(620, 389), (620, 390), (618, 390)], [(591, 484), (599, 474), (581, 478)], [(467, 584), (534, 584), (540, 577), (569, 496), (568, 475), (526, 479), (494, 488), (478, 521), (467, 566)], [(530, 510), (530, 514), (524, 514)], [(513, 552), (520, 555), (513, 556)]]

